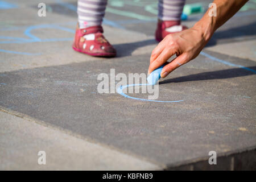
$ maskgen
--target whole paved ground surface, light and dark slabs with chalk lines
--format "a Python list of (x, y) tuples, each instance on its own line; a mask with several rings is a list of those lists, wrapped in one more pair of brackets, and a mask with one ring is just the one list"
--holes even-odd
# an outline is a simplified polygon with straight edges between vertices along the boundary
[[(147, 72), (157, 43), (155, 11), (145, 7), (155, 1), (109, 1), (104, 30), (118, 51), (112, 59), (72, 50), (76, 1), (46, 1), (46, 17), (37, 16), (39, 1), (8, 2), (16, 8), (0, 10), (1, 169), (163, 169), (203, 160), (209, 151), (255, 148), (253, 6), (160, 81), (158, 100), (184, 101), (158, 103), (97, 92), (97, 76), (112, 68)], [(201, 16), (183, 23), (191, 27)], [(39, 149), (51, 156), (44, 167), (36, 164)]]

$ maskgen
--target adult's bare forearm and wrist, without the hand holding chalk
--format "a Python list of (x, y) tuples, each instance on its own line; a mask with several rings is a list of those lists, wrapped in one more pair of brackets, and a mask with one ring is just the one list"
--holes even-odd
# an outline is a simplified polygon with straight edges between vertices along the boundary
[(209, 15), (209, 11), (212, 11), (211, 9), (213, 7), (208, 9), (207, 13), (204, 14), (203, 18), (201, 18), (193, 28), (199, 30), (206, 42), (208, 42), (214, 31), (236, 14), (247, 1), (248, 0), (214, 0), (213, 3), (216, 4), (217, 9), (216, 16)]

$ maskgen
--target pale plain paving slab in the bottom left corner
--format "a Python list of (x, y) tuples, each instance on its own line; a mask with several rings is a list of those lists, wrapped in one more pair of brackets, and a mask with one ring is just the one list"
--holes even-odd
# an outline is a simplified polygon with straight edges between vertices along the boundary
[[(156, 170), (155, 164), (122, 154), (0, 111), (1, 170)], [(38, 152), (46, 152), (46, 165)]]

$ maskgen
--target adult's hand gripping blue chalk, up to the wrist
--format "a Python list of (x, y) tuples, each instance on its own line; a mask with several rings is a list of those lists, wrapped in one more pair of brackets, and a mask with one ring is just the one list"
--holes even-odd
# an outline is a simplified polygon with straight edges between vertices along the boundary
[(195, 59), (204, 48), (207, 40), (200, 28), (189, 28), (167, 35), (151, 53), (148, 73), (166, 63), (170, 57), (176, 54), (176, 58), (163, 67), (161, 77), (166, 77), (181, 65)]

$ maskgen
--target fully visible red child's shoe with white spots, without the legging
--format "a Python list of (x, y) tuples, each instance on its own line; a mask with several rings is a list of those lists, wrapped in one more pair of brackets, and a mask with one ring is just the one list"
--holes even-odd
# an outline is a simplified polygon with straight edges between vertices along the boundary
[(73, 49), (90, 56), (114, 57), (117, 53), (102, 33), (101, 26), (81, 29), (77, 26)]

